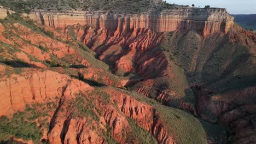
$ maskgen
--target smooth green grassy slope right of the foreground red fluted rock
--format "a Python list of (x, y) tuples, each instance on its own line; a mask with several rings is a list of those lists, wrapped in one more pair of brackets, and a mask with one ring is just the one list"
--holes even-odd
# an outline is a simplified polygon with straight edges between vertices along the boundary
[(219, 143), (225, 142), (225, 129), (218, 124), (205, 122), (197, 119), (189, 112), (164, 106), (135, 91), (125, 91), (124, 89), (119, 89), (119, 91), (153, 106), (159, 112), (159, 118), (164, 122), (167, 130), (173, 134), (177, 143), (207, 143), (207, 137), (217, 140)]

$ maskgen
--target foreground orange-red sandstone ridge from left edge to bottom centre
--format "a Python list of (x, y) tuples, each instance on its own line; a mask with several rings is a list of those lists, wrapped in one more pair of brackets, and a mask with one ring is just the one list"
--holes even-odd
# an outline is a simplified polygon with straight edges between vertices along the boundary
[[(6, 67), (1, 66), (0, 71), (4, 69)], [(26, 105), (32, 103), (37, 104), (38, 111), (45, 110), (40, 105), (49, 101), (56, 103), (56, 110), (49, 110), (51, 115), (44, 116), (50, 123), (49, 131), (42, 127), (43, 139), (50, 143), (111, 143), (105, 135), (106, 127), (111, 128), (110, 134), (120, 143), (140, 142), (139, 139), (129, 139), (133, 134), (127, 117), (149, 131), (158, 143), (176, 143), (152, 106), (118, 89), (95, 89), (82, 81), (48, 70), (23, 70), (26, 72), (20, 75), (2, 77), (0, 115), (24, 111)], [(83, 112), (86, 115), (82, 115)]]

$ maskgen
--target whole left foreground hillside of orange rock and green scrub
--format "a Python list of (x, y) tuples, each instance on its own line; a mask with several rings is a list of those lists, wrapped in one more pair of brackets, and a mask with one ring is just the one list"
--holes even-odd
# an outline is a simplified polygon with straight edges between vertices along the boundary
[[(219, 125), (201, 124), (187, 112), (107, 86), (142, 78), (136, 69), (128, 76), (112, 74), (74, 35), (17, 14), (0, 22), (1, 142), (207, 143), (216, 134), (204, 127), (221, 128), (219, 141), (225, 141)], [(148, 43), (162, 37), (142, 29), (139, 39), (149, 33), (154, 36)], [(148, 50), (149, 44), (141, 45)]]

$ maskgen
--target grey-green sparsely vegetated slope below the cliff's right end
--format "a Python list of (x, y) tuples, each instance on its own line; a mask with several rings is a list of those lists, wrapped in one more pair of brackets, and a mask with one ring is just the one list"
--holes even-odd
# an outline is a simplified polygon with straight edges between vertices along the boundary
[[(190, 83), (203, 83), (214, 91), (225, 92), (255, 82), (255, 57), (251, 54), (254, 48), (250, 50), (240, 41), (232, 43), (229, 34), (204, 39), (193, 31), (178, 32), (162, 42), (162, 49), (181, 65)], [(228, 84), (220, 85), (223, 81)]]

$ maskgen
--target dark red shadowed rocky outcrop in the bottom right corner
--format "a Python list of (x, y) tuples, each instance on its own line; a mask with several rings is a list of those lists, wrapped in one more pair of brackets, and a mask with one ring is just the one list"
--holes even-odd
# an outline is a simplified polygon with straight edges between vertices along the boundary
[(232, 143), (255, 143), (256, 105), (255, 87), (232, 91), (222, 96), (212, 93), (201, 86), (195, 86), (197, 113), (202, 119), (219, 122), (228, 127), (228, 140)]

